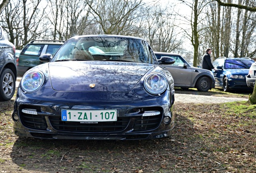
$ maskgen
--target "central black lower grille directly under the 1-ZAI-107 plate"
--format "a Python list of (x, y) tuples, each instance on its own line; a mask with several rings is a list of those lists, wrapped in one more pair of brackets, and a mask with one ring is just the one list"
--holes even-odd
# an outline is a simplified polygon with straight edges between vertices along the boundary
[(80, 123), (72, 121), (61, 121), (61, 117), (49, 117), (52, 127), (59, 131), (76, 132), (116, 132), (123, 131), (129, 121), (129, 117), (118, 118), (113, 122)]

